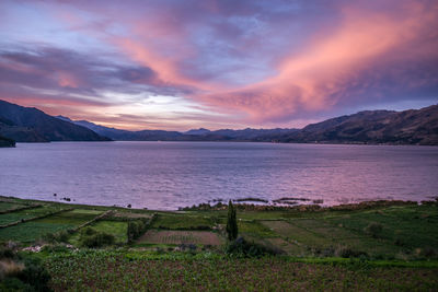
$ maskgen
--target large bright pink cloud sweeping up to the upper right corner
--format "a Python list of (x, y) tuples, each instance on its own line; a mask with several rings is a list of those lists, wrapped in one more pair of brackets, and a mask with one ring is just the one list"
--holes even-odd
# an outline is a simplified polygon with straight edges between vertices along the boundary
[(431, 27), (438, 27), (437, 10), (427, 5), (410, 2), (397, 14), (345, 8), (343, 15), (335, 31), (321, 32), (301, 52), (281, 60), (275, 77), (193, 97), (215, 107), (242, 110), (254, 121), (290, 119), (350, 98), (349, 87), (367, 87), (364, 71), (438, 55), (430, 50), (438, 47), (438, 40), (424, 39), (433, 33)]

